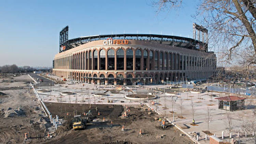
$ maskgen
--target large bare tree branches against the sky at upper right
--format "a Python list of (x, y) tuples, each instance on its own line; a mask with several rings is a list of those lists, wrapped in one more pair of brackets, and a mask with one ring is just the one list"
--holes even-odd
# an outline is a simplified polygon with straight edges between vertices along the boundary
[[(155, 0), (157, 13), (181, 8), (182, 0)], [(220, 57), (246, 66), (256, 64), (256, 0), (201, 0), (194, 16), (209, 30), (209, 44)]]

